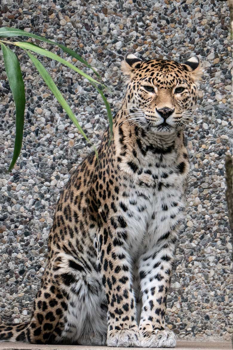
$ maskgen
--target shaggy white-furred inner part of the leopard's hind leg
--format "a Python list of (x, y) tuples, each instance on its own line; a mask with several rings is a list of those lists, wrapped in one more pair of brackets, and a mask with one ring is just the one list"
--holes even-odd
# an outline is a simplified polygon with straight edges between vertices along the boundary
[(65, 294), (63, 331), (58, 343), (105, 345), (107, 335), (107, 299), (95, 261), (87, 255), (59, 254), (54, 277)]

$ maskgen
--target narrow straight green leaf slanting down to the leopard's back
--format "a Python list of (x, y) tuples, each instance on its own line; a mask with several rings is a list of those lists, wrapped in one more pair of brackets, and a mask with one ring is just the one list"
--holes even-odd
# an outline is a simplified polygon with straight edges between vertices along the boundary
[(39, 74), (41, 75), (41, 77), (43, 78), (45, 84), (49, 87), (49, 89), (51, 90), (51, 92), (53, 93), (53, 95), (56, 97), (56, 99), (58, 100), (58, 102), (60, 103), (60, 105), (63, 107), (63, 109), (66, 111), (66, 113), (68, 114), (68, 116), (70, 117), (70, 119), (73, 121), (74, 125), (77, 127), (77, 129), (79, 130), (80, 134), (82, 134), (82, 136), (94, 147), (94, 151), (96, 154), (97, 159), (98, 158), (98, 153), (97, 153), (97, 149), (95, 148), (95, 146), (92, 144), (92, 142), (90, 142), (90, 140), (88, 139), (88, 137), (86, 136), (85, 132), (82, 130), (81, 126), (79, 125), (78, 120), (75, 118), (70, 106), (67, 104), (66, 100), (64, 99), (64, 97), (62, 96), (62, 94), (60, 93), (60, 91), (58, 90), (56, 84), (54, 84), (52, 78), (50, 77), (49, 73), (46, 71), (46, 69), (44, 68), (44, 66), (41, 64), (41, 62), (38, 61), (38, 59), (33, 56), (32, 54), (30, 54), (30, 52), (28, 52), (26, 50), (29, 58), (31, 59), (32, 63), (35, 65), (36, 69), (38, 70)]

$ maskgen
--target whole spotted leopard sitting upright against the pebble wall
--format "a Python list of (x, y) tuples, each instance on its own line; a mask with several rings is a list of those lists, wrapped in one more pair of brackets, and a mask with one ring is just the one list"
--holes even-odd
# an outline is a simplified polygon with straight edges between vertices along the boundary
[(106, 128), (98, 156), (80, 163), (57, 202), (30, 321), (1, 324), (1, 341), (176, 345), (165, 314), (202, 64), (129, 52), (121, 70), (126, 94), (112, 133)]

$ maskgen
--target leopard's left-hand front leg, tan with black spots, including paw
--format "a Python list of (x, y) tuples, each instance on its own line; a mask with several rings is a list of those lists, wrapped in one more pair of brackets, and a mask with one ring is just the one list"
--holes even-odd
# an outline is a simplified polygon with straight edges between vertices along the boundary
[(131, 259), (124, 229), (111, 224), (99, 232), (97, 251), (108, 302), (107, 345), (139, 347), (136, 303), (132, 290)]

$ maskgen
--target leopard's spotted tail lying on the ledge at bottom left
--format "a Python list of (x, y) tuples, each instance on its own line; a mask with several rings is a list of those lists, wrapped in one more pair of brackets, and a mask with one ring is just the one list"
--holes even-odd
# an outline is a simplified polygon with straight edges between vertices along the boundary
[(1, 323), (0, 342), (26, 342), (30, 343), (29, 323)]

